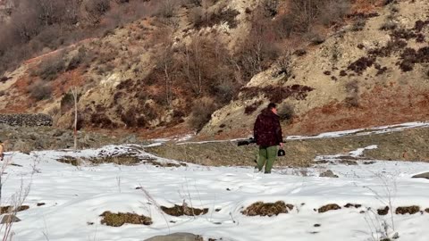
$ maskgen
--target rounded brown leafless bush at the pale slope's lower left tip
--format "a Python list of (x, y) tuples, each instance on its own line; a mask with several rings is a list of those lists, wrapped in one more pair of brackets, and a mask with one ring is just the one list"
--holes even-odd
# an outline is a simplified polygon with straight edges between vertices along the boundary
[(196, 100), (189, 117), (189, 126), (198, 131), (203, 129), (206, 123), (212, 119), (212, 113), (216, 110), (216, 105), (211, 98), (201, 98)]

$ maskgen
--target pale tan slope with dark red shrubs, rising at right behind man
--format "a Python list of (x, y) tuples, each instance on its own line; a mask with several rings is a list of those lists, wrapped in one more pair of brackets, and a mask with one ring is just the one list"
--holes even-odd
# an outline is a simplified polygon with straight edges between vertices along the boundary
[(288, 134), (427, 120), (428, 12), (429, 3), (417, 0), (361, 14), (323, 44), (291, 55), (287, 71), (274, 66), (255, 76), (202, 133), (250, 135), (269, 99), (294, 112), (283, 122)]

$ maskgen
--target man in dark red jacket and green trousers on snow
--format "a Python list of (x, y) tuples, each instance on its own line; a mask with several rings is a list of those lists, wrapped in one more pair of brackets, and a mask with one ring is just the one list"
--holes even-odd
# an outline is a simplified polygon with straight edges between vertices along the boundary
[(268, 107), (257, 115), (253, 136), (259, 145), (257, 170), (261, 171), (265, 166), (265, 173), (271, 173), (277, 156), (277, 145), (283, 147), (282, 127), (275, 104), (268, 104)]

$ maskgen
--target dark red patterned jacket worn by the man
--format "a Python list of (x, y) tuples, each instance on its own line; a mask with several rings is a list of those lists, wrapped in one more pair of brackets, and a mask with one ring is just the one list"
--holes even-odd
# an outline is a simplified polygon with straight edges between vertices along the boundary
[(257, 115), (253, 137), (257, 139), (257, 145), (260, 146), (279, 145), (283, 141), (279, 116), (267, 108), (264, 109)]

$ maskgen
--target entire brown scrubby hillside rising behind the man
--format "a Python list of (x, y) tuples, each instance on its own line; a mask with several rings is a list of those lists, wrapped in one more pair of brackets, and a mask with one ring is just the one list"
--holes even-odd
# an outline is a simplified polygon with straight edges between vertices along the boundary
[[(268, 101), (290, 132), (384, 123), (391, 115), (359, 117), (389, 100), (398, 113), (397, 90), (427, 101), (427, 10), (421, 0), (16, 1), (0, 26), (0, 110), (46, 112), (66, 128), (77, 87), (85, 129), (242, 136)], [(416, 112), (398, 120), (425, 118)]]

